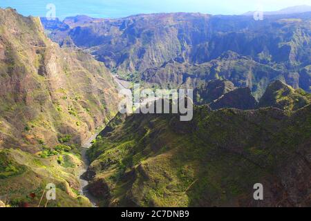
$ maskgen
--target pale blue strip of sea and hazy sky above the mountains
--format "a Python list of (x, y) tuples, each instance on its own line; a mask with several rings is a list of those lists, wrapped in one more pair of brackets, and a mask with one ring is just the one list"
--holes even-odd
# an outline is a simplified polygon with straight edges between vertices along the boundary
[(53, 3), (56, 16), (126, 17), (153, 12), (202, 12), (213, 15), (238, 15), (258, 9), (280, 10), (289, 6), (310, 5), (311, 0), (0, 0), (0, 7), (16, 8), (23, 15), (46, 16)]

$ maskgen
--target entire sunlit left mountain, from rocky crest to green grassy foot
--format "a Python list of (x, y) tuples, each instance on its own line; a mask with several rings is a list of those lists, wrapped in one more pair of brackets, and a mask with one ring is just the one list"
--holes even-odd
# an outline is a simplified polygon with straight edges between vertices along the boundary
[(77, 195), (79, 146), (117, 113), (116, 88), (91, 55), (50, 41), (39, 18), (0, 9), (0, 195), (37, 206), (53, 182), (49, 206), (90, 206)]

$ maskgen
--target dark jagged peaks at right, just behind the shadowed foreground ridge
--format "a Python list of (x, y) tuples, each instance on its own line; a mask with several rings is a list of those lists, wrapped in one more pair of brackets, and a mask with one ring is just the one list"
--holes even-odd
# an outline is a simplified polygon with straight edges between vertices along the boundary
[(194, 90), (195, 104), (207, 104), (212, 110), (237, 108), (253, 110), (274, 107), (283, 111), (296, 111), (311, 104), (311, 95), (301, 88), (294, 89), (276, 80), (267, 86), (265, 93), (256, 101), (250, 88), (236, 88), (231, 81), (213, 80)]

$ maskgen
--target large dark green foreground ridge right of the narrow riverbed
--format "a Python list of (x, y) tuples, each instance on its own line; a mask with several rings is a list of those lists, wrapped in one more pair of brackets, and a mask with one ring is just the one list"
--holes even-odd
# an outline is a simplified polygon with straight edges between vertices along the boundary
[(310, 206), (310, 108), (119, 118), (88, 150), (89, 191), (100, 206)]

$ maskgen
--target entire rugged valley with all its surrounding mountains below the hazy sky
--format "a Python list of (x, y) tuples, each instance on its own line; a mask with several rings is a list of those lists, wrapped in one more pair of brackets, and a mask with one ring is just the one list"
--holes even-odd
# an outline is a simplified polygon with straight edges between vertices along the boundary
[[(0, 206), (311, 206), (310, 44), (311, 12), (0, 8)], [(193, 119), (120, 113), (134, 84), (193, 90)]]

